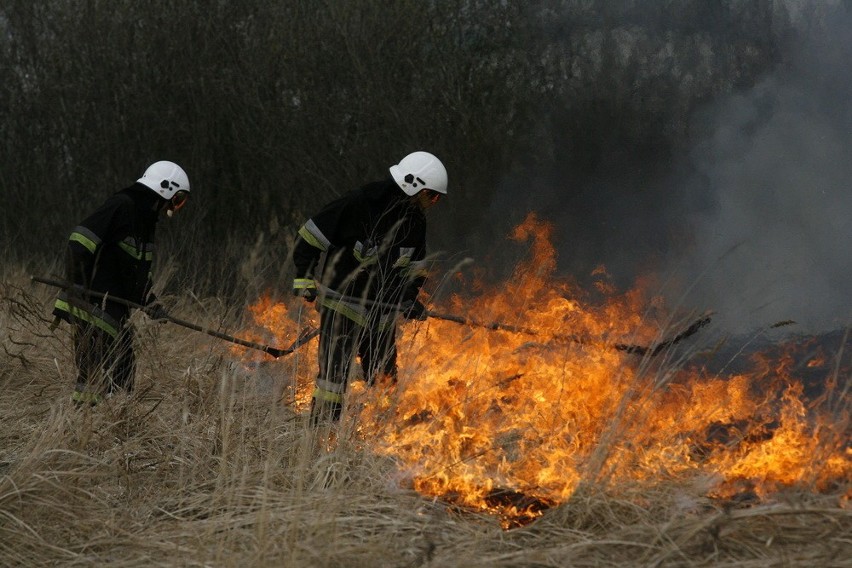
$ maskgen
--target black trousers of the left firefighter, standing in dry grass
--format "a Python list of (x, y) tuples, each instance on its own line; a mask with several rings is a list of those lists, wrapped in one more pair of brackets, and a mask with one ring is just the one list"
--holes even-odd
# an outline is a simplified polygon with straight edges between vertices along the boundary
[(75, 390), (95, 395), (119, 389), (132, 391), (136, 374), (133, 335), (133, 327), (126, 320), (117, 337), (89, 323), (74, 322)]

